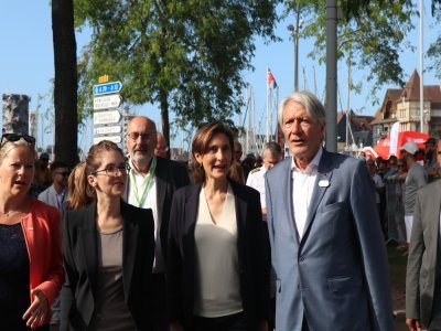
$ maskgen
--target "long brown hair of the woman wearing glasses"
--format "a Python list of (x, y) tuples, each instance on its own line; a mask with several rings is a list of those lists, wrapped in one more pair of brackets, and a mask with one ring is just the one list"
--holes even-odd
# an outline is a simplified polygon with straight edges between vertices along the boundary
[(96, 192), (94, 188), (89, 185), (87, 175), (98, 170), (101, 164), (103, 152), (111, 150), (125, 157), (118, 145), (109, 140), (101, 140), (90, 147), (86, 161), (75, 167), (68, 179), (71, 207), (79, 209), (96, 200)]

